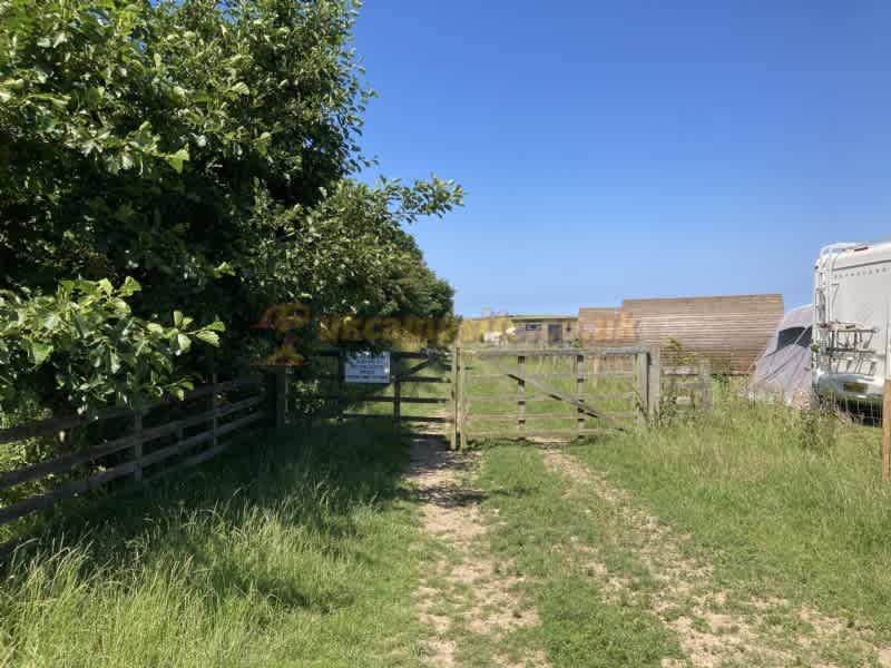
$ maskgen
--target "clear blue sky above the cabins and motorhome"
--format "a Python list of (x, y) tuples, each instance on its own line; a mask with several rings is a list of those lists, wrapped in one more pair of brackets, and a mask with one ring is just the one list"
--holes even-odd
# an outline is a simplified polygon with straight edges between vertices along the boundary
[(466, 206), (413, 229), (478, 315), (625, 297), (810, 302), (891, 236), (891, 3), (368, 0), (378, 171)]

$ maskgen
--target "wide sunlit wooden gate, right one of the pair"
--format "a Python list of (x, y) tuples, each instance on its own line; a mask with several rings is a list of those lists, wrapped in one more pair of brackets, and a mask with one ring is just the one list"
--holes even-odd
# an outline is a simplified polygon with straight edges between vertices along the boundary
[(572, 438), (656, 415), (659, 351), (650, 346), (457, 348), (451, 440)]

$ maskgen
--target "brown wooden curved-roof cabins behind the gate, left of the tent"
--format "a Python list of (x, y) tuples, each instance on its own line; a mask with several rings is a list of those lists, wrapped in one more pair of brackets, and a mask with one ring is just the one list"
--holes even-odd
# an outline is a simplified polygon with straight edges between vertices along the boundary
[(580, 308), (586, 345), (672, 342), (715, 372), (750, 373), (784, 314), (777, 294), (625, 299), (619, 308)]

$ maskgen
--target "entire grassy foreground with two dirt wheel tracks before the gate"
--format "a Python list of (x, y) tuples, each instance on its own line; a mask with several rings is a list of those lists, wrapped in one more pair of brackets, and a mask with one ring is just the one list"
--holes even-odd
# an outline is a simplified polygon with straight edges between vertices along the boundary
[(385, 415), (266, 434), (45, 525), (0, 664), (889, 666), (879, 441), (736, 390), (432, 459)]

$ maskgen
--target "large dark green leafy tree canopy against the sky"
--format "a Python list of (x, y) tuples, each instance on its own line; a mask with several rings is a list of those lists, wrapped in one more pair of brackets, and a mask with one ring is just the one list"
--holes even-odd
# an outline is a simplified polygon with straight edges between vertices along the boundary
[[(92, 295), (112, 327), (218, 314), (223, 372), (255, 355), (247, 327), (276, 302), (450, 313), (451, 288), (405, 225), (460, 204), (461, 188), (355, 178), (370, 165), (358, 138), (371, 95), (355, 14), (349, 0), (0, 0), (8, 303), (31, 291), (65, 311), (79, 289), (71, 303)], [(95, 286), (127, 277), (145, 287), (131, 313), (102, 311), (124, 297)], [(188, 370), (200, 375), (212, 356)], [(120, 392), (115, 380), (99, 396)]]

